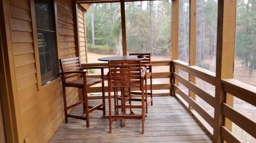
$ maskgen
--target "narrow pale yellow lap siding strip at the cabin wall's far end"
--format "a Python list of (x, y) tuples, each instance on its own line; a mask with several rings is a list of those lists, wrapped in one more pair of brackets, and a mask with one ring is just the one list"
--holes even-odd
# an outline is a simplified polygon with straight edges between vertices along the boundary
[(84, 8), (80, 5), (78, 6), (77, 21), (78, 21), (78, 31), (79, 31), (79, 49), (80, 49), (80, 60), (81, 63), (87, 62), (87, 52), (86, 52), (86, 31), (85, 31), (85, 21), (84, 21)]

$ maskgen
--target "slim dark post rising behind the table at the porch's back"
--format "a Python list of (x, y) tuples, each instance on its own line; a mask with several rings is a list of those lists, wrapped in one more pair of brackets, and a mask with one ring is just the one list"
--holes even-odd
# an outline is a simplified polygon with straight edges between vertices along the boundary
[(125, 0), (121, 0), (121, 24), (122, 24), (122, 50), (123, 56), (127, 55), (127, 48), (126, 48), (126, 27), (125, 27)]

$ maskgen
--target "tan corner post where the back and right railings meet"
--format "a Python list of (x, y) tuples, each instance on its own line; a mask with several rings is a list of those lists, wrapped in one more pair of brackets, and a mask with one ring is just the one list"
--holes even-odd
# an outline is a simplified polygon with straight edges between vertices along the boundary
[[(172, 0), (172, 60), (176, 59), (179, 59), (179, 0)], [(173, 79), (174, 72), (179, 70), (172, 64), (172, 96), (175, 95), (173, 85), (178, 85), (178, 81)]]

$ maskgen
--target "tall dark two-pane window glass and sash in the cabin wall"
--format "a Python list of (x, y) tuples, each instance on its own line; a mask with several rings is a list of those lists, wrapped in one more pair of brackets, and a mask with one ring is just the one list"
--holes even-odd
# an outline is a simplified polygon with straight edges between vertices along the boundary
[(51, 0), (35, 0), (38, 51), (42, 85), (58, 77), (58, 59)]

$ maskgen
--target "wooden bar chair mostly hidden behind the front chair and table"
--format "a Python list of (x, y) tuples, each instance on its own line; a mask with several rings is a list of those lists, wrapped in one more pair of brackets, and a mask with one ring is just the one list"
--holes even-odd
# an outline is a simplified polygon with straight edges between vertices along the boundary
[[(147, 73), (145, 75), (145, 103), (146, 103), (146, 113), (148, 113), (148, 105), (151, 103), (153, 105), (153, 93), (152, 93), (152, 64), (150, 53), (129, 53), (129, 56), (138, 56), (144, 55), (146, 58), (141, 60), (141, 66), (147, 68)], [(147, 80), (150, 79), (150, 93), (147, 90)], [(140, 92), (131, 92), (129, 94), (141, 95)], [(148, 101), (148, 95), (151, 95), (150, 100)], [(131, 101), (137, 101), (137, 99), (131, 98)]]

